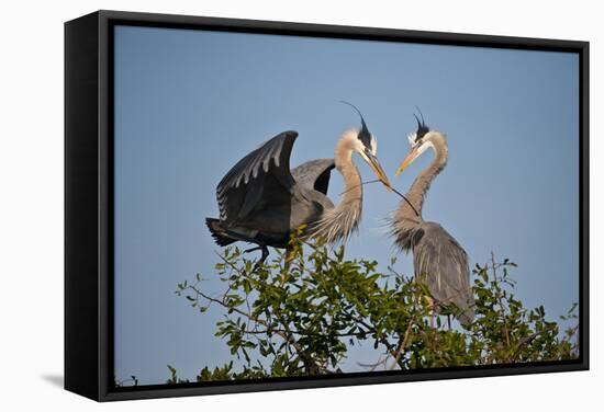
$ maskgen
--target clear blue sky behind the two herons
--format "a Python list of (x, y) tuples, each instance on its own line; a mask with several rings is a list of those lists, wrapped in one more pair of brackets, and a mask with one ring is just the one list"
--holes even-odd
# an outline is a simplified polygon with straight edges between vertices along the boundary
[[(215, 186), (282, 130), (300, 133), (292, 165), (332, 157), (339, 134), (359, 125), (340, 100), (362, 111), (403, 192), (432, 160), (393, 178), (418, 105), (449, 142), (424, 218), (455, 236), (472, 264), (491, 251), (518, 263), (517, 295), (551, 319), (564, 313), (579, 300), (578, 70), (578, 56), (564, 53), (116, 27), (116, 378), (163, 384), (170, 364), (194, 379), (231, 359), (214, 336), (222, 311), (200, 314), (174, 294), (195, 273), (212, 277), (217, 247), (204, 219), (217, 217)], [(329, 195), (340, 192), (334, 172)], [(398, 202), (366, 186), (349, 258), (385, 264), (396, 254), (383, 218)], [(401, 255), (399, 271), (412, 273), (411, 261)], [(376, 358), (372, 347), (355, 348), (346, 369)]]

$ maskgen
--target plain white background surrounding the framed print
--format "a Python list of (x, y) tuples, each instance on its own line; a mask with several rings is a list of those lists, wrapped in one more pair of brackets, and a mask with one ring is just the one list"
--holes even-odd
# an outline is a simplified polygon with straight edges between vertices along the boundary
[[(590, 410), (602, 399), (603, 13), (597, 1), (5, 2), (0, 24), (0, 409)], [(592, 370), (96, 404), (63, 376), (63, 22), (116, 9), (591, 42)], [(552, 164), (552, 168), (556, 165)]]

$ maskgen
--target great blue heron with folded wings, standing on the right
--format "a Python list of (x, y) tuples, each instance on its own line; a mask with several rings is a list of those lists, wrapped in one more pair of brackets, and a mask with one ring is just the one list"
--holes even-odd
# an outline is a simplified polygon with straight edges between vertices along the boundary
[(399, 175), (428, 148), (434, 151), (433, 162), (420, 173), (394, 213), (392, 233), (394, 242), (403, 251), (413, 252), (415, 276), (424, 277), (430, 295), (440, 305), (455, 304), (459, 311), (455, 317), (468, 324), (474, 318), (473, 294), (470, 287), (468, 255), (461, 245), (440, 225), (424, 221), (422, 207), (426, 192), (438, 173), (445, 169), (448, 159), (447, 139), (444, 134), (430, 130), (417, 116), (417, 130), (409, 135), (411, 152), (395, 175)]

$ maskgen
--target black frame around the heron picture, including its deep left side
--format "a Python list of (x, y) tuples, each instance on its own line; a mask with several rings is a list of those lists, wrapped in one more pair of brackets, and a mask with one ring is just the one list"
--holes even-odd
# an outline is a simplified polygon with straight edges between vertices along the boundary
[[(113, 384), (113, 26), (179, 27), (577, 53), (580, 56), (580, 357), (577, 360), (351, 373), (309, 378)], [(97, 401), (589, 369), (589, 43), (269, 21), (97, 11), (65, 23), (65, 388)]]

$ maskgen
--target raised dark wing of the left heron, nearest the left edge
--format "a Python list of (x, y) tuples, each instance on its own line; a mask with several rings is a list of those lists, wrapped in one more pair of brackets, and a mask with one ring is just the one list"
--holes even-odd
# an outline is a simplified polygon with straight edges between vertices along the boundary
[(232, 224), (261, 203), (288, 202), (295, 184), (290, 154), (297, 131), (283, 131), (239, 160), (216, 187), (220, 217)]

